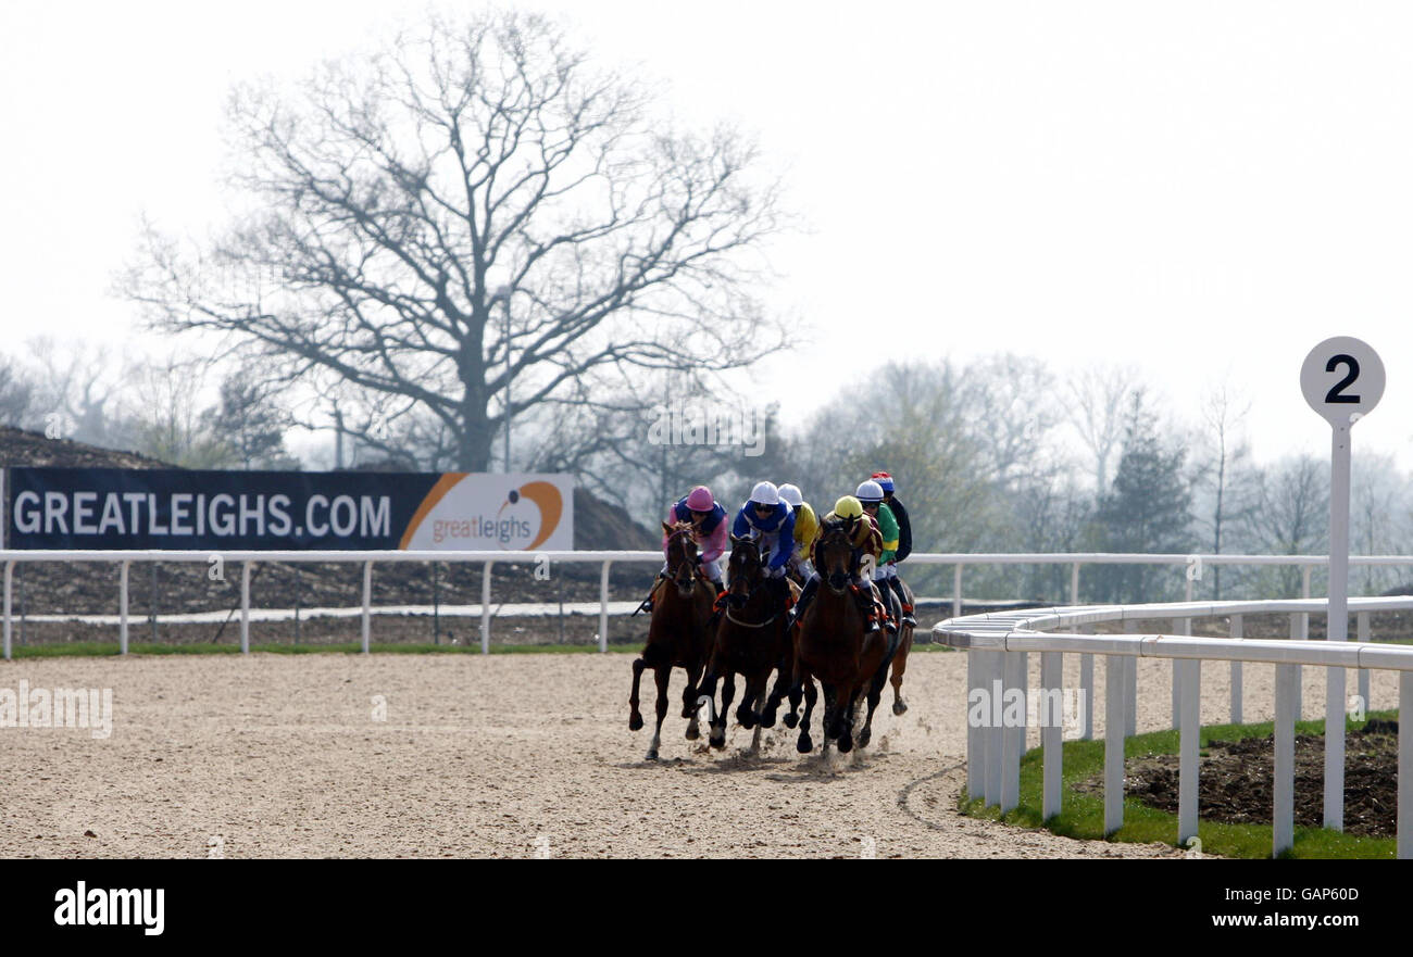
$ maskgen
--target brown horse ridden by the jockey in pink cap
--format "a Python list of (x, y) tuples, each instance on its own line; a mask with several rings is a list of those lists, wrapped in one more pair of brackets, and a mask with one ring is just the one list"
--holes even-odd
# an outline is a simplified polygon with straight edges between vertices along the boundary
[(711, 618), (715, 593), (702, 577), (697, 563), (697, 541), (690, 522), (668, 525), (667, 532), (667, 582), (661, 582), (653, 604), (653, 618), (647, 627), (647, 645), (643, 656), (633, 662), (633, 694), (627, 727), (637, 731), (643, 727), (643, 714), (637, 710), (639, 682), (643, 669), (651, 668), (657, 679), (657, 730), (653, 744), (647, 748), (647, 759), (657, 761), (657, 750), (663, 741), (663, 718), (667, 717), (667, 683), (673, 669), (687, 672), (687, 689), (682, 692), (682, 717), (688, 718), (687, 740), (695, 741), (697, 727), (697, 680), (701, 678), (711, 652), (711, 635), (706, 622)]

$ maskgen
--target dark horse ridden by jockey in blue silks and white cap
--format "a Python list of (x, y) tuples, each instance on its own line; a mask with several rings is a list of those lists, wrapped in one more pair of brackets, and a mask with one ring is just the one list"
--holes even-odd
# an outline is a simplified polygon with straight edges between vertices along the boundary
[[(736, 721), (746, 730), (756, 730), (750, 750), (759, 751), (760, 728), (774, 726), (776, 710), (790, 687), (794, 648), (786, 610), (777, 604), (760, 553), (760, 539), (732, 535), (726, 569), (731, 584), (699, 694), (711, 699), (716, 693), (716, 680), (722, 679), (721, 710), (712, 716), (709, 740), (711, 747), (725, 748), (726, 718), (736, 696), (735, 676), (740, 675), (746, 690), (736, 709)], [(774, 669), (780, 673), (767, 700), (766, 685)]]

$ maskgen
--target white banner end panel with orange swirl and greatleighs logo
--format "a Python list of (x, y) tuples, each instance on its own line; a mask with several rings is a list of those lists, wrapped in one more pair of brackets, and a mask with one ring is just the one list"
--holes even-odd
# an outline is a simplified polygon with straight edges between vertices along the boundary
[[(560, 479), (554, 481), (551, 479)], [(507, 480), (512, 487), (507, 490)], [(574, 548), (565, 490), (550, 476), (448, 473), (418, 505), (403, 549), (536, 550)]]

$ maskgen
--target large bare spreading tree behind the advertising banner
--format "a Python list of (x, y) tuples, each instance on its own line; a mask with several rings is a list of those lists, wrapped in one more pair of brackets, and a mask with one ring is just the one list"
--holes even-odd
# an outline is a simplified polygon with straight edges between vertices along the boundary
[(543, 17), (431, 21), (298, 99), (243, 88), (230, 120), (260, 212), (195, 257), (148, 230), (124, 292), (157, 327), (235, 333), (278, 381), (435, 422), (461, 469), (613, 371), (784, 343), (747, 295), (783, 224), (755, 147), (674, 133)]

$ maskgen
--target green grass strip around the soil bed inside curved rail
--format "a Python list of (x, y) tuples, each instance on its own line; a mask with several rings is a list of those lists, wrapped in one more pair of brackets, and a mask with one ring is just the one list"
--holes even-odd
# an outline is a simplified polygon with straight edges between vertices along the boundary
[[(1368, 720), (1397, 718), (1397, 711), (1378, 711), (1369, 714), (1365, 721), (1347, 720), (1345, 728), (1359, 730)], [(1214, 724), (1202, 728), (1201, 747), (1208, 741), (1239, 741), (1243, 738), (1263, 738), (1275, 733), (1275, 723), (1262, 724)], [(1297, 734), (1324, 734), (1324, 720), (1297, 721)], [(1177, 731), (1153, 731), (1128, 738), (1123, 742), (1125, 758), (1142, 758), (1150, 754), (1177, 754)], [(1085, 840), (1102, 840), (1104, 833), (1104, 798), (1088, 795), (1074, 789), (1074, 785), (1104, 774), (1104, 741), (1065, 741), (1064, 742), (1064, 772), (1061, 775), (1061, 812), (1050, 820), (1041, 820), (1044, 785), (1044, 766), (1041, 762), (1041, 748), (1027, 751), (1020, 759), (1020, 803), (1015, 810), (1002, 814), (995, 806), (988, 807), (985, 800), (966, 799), (964, 795), (958, 805), (962, 813), (974, 817), (1000, 820), (1007, 824), (1023, 827), (1044, 827), (1061, 837), (1077, 837)], [(1198, 820), (1197, 837), (1201, 841), (1202, 854), (1219, 854), (1222, 857), (1269, 858), (1270, 857), (1270, 824), (1224, 824), (1221, 821)], [(1113, 841), (1132, 841), (1140, 844), (1171, 844), (1177, 847), (1177, 814), (1156, 810), (1133, 798), (1123, 802), (1123, 827), (1108, 836)], [(1296, 840), (1290, 851), (1282, 857), (1290, 858), (1393, 858), (1396, 857), (1397, 841), (1392, 837), (1361, 837), (1356, 834), (1342, 834), (1323, 827), (1296, 827)]]

